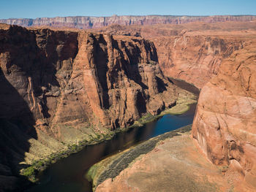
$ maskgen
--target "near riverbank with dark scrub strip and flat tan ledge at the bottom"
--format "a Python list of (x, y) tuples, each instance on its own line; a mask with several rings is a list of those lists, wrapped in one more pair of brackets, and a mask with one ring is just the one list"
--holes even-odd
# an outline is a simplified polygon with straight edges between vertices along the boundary
[(112, 155), (89, 169), (94, 191), (232, 191), (222, 166), (207, 161), (186, 126)]

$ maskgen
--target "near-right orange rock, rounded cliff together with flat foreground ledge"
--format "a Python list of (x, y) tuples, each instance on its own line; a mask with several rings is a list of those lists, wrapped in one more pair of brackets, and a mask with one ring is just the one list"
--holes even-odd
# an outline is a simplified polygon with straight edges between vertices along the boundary
[(192, 132), (159, 141), (115, 178), (94, 176), (96, 191), (256, 191), (255, 43), (223, 59), (203, 86)]

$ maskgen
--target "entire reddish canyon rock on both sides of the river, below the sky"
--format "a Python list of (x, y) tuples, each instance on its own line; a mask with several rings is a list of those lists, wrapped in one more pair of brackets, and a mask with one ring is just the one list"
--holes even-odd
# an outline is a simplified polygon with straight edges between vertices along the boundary
[[(256, 191), (255, 16), (0, 23), (19, 25), (0, 26), (0, 188), (34, 159), (195, 99), (178, 79), (201, 90), (192, 131), (159, 141), (96, 191)], [(191, 183), (170, 185), (172, 175)]]

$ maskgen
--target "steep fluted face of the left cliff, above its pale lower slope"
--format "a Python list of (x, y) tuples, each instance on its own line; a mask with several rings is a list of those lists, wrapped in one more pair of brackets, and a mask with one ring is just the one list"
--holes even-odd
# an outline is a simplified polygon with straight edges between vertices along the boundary
[(176, 98), (154, 44), (140, 38), (10, 26), (1, 30), (0, 58), (1, 77), (29, 107), (3, 88), (1, 118), (31, 113), (48, 126), (97, 119), (118, 128), (159, 113)]

